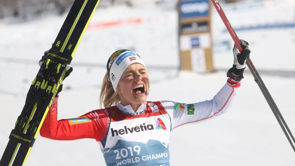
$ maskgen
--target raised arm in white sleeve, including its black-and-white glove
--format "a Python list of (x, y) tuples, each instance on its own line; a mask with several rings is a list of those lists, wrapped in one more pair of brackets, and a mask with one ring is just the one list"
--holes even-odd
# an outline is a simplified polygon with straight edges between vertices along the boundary
[(240, 87), (240, 81), (246, 68), (246, 57), (250, 55), (249, 43), (240, 40), (243, 51), (240, 52), (234, 45), (234, 64), (227, 72), (227, 83), (213, 97), (212, 100), (196, 102), (192, 104), (173, 101), (161, 101), (171, 118), (172, 129), (181, 125), (197, 123), (212, 119), (228, 111), (236, 96), (236, 89)]

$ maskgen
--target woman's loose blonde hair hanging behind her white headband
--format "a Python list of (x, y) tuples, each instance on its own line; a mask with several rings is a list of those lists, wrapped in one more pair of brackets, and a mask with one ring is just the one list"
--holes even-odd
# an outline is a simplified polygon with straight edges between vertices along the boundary
[(109, 108), (111, 106), (119, 104), (119, 102), (119, 94), (118, 92), (114, 91), (113, 86), (109, 81), (109, 73), (106, 72), (102, 81), (101, 92), (99, 95), (100, 108), (102, 108), (102, 104), (104, 104), (104, 108)]

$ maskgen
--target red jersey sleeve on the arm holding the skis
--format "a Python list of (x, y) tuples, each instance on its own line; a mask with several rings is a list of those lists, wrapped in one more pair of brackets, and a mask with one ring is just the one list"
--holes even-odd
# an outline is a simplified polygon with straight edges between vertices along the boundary
[(58, 97), (55, 97), (40, 128), (40, 135), (55, 140), (83, 138), (100, 141), (106, 135), (109, 115), (106, 109), (93, 110), (77, 118), (57, 120)]

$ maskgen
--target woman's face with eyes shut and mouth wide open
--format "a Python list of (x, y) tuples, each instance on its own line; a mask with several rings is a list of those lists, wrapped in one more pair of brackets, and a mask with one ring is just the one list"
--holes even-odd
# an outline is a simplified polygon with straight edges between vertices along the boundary
[(124, 104), (142, 104), (147, 100), (150, 78), (142, 64), (134, 63), (122, 74), (117, 92)]

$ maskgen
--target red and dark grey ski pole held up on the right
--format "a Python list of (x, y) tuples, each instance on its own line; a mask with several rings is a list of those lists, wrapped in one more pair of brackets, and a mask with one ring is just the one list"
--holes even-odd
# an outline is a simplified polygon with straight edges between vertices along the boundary
[[(211, 0), (212, 3), (215, 6), (215, 9), (217, 10), (219, 16), (221, 17), (224, 25), (226, 26), (228, 32), (230, 32), (230, 35), (232, 36), (232, 39), (234, 40), (235, 44), (237, 45), (237, 48), (239, 49), (239, 51), (243, 51), (242, 46), (241, 46), (241, 42), (240, 39), (237, 37), (237, 34), (235, 32), (235, 30), (232, 28), (232, 25), (230, 24), (230, 22), (228, 21), (227, 17), (225, 16), (220, 4), (218, 3), (218, 0)], [(253, 64), (253, 62), (251, 61), (250, 57), (246, 58), (246, 64), (248, 66), (248, 68), (251, 71), (251, 74), (254, 77), (254, 81), (258, 84), (258, 87), (260, 88), (263, 96), (265, 97), (269, 107), (271, 108), (273, 114), (275, 115), (278, 123), (280, 124), (283, 132), (285, 133), (289, 143), (291, 144), (291, 147), (293, 148), (294, 152), (295, 152), (295, 147), (291, 141), (291, 139), (293, 140), (293, 142), (295, 142), (294, 136), (292, 135), (286, 121), (283, 118), (283, 115), (281, 114), (281, 112), (278, 110), (278, 107), (276, 106), (276, 103), (274, 102), (273, 98), (271, 97), (271, 94), (268, 92), (268, 89), (266, 88), (264, 82), (262, 81), (260, 75), (258, 74), (258, 71), (255, 69), (255, 66)], [(288, 132), (287, 132), (287, 131)], [(290, 137), (289, 137), (289, 135)]]

